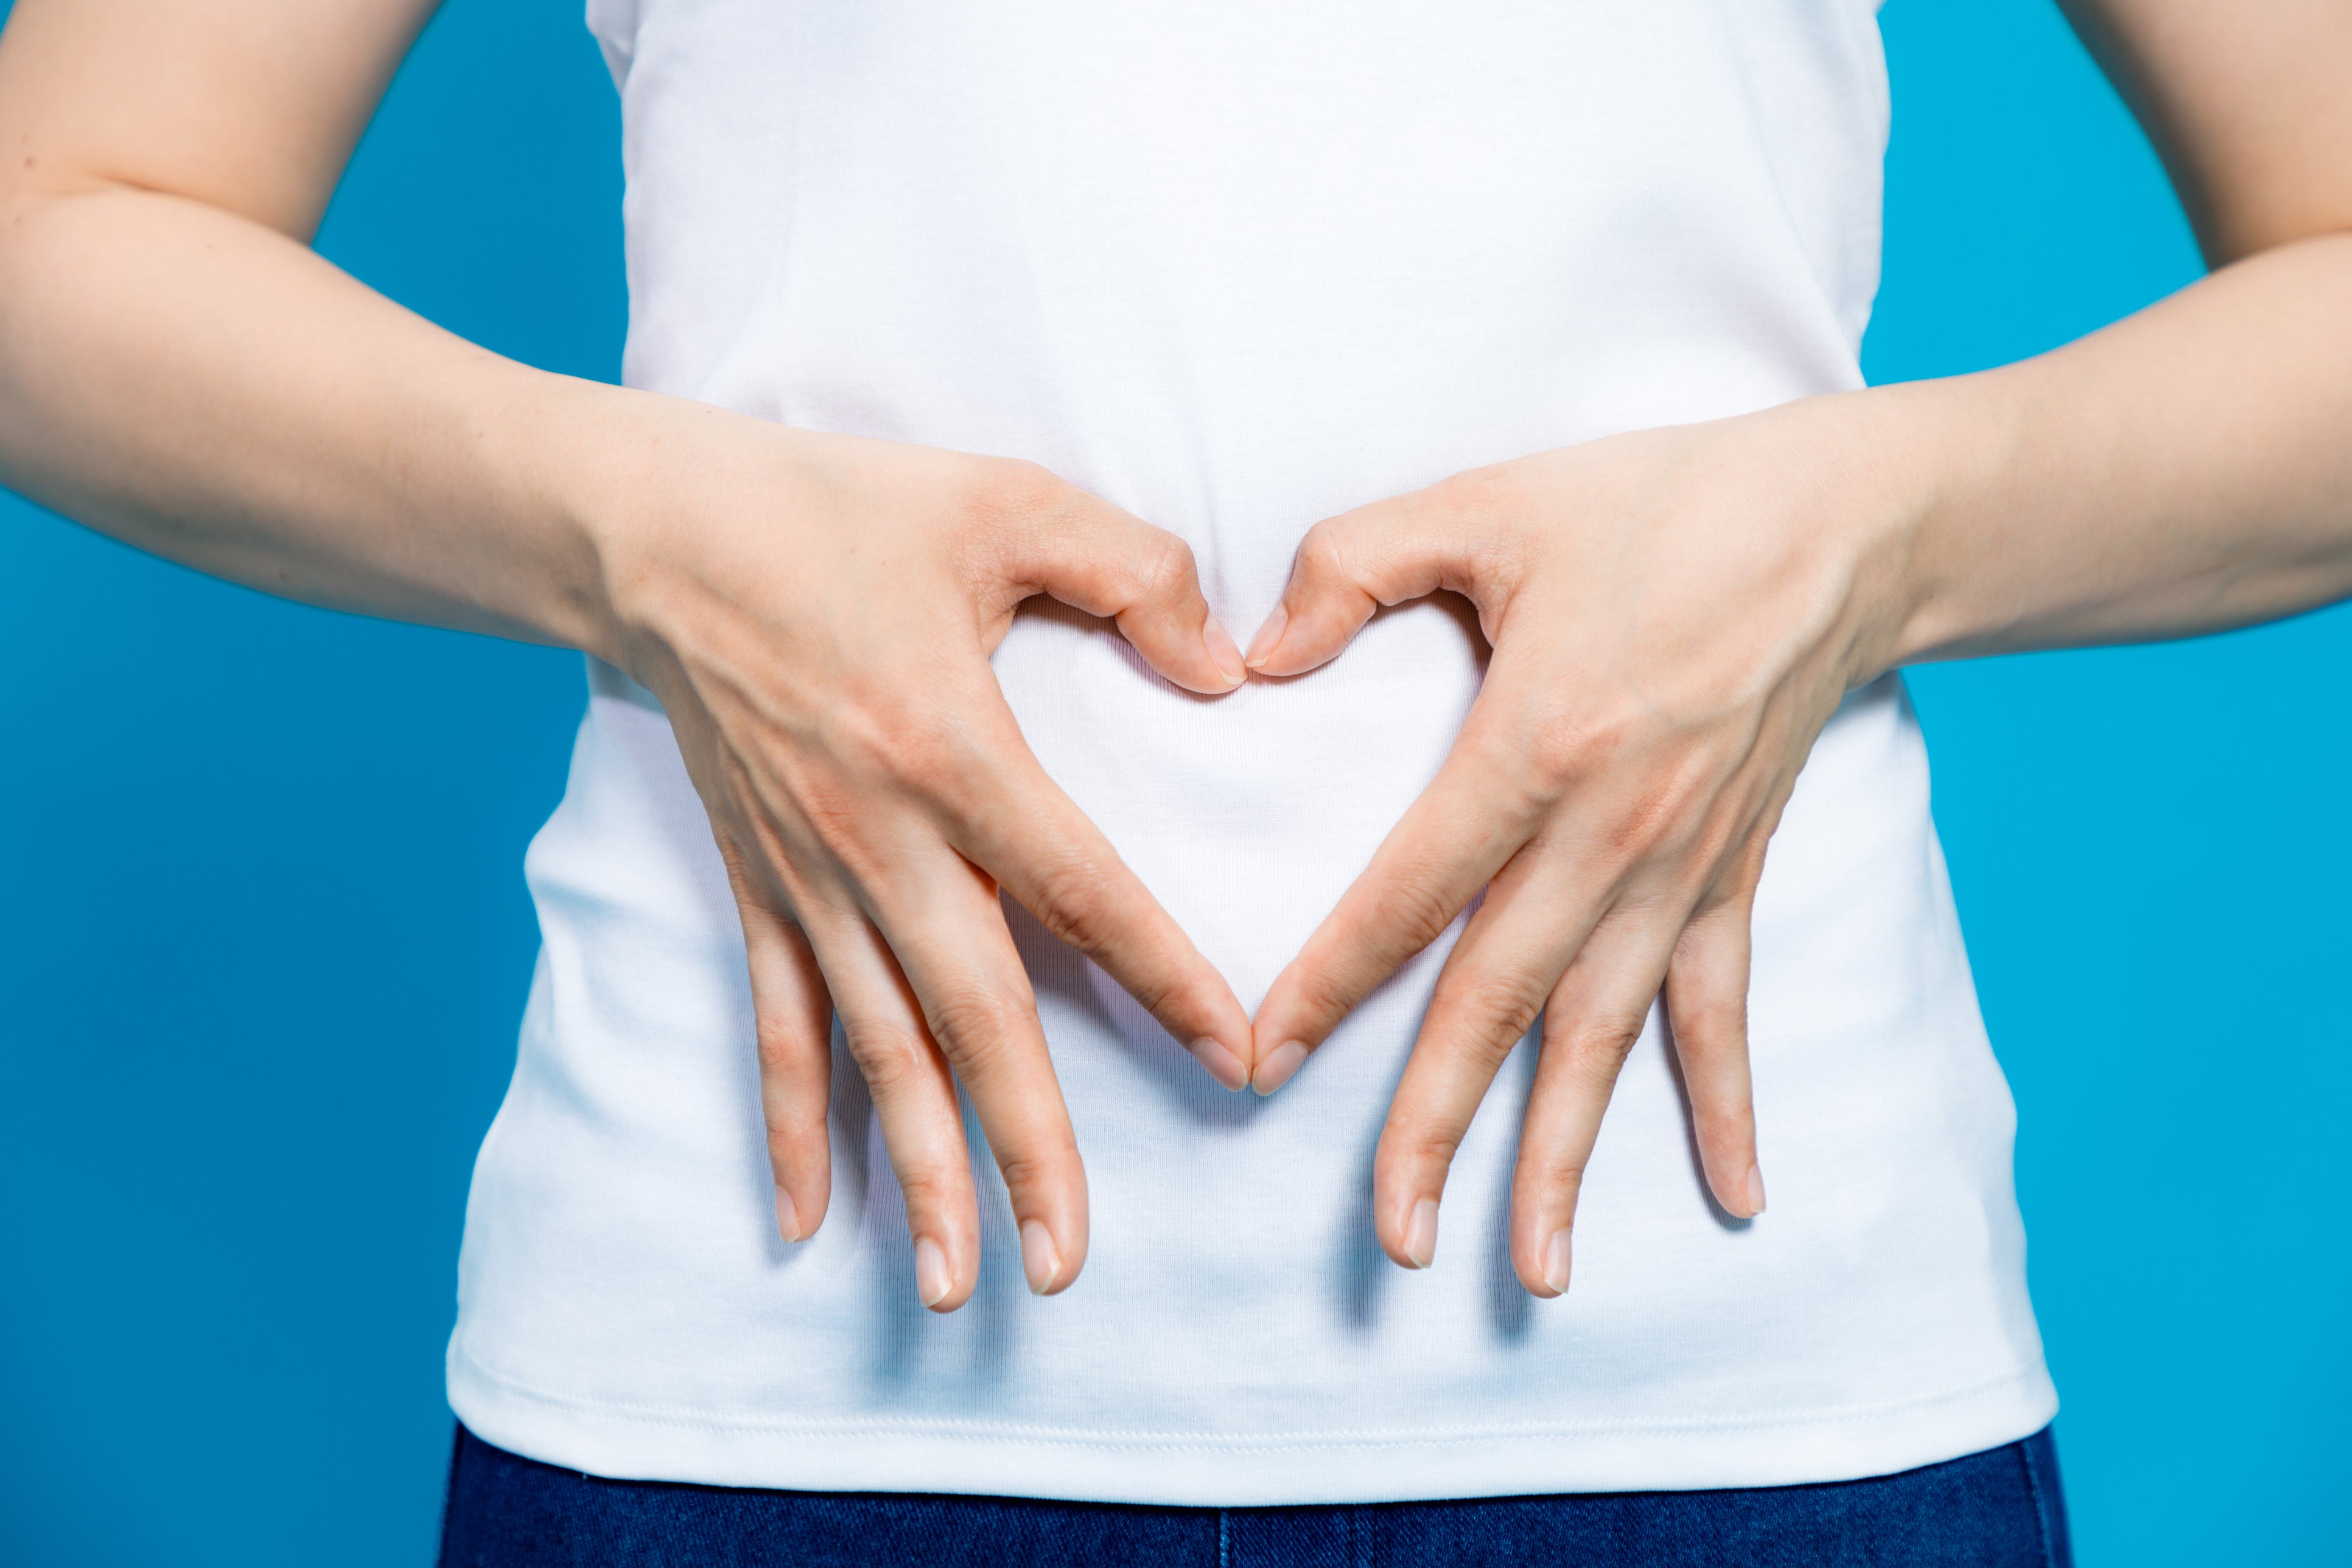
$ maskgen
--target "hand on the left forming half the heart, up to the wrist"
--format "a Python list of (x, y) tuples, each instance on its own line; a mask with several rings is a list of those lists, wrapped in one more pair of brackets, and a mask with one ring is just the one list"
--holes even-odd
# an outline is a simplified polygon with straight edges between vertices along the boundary
[(988, 656), (1044, 592), (1115, 618), (1178, 686), (1232, 691), (1242, 656), (1192, 552), (1033, 463), (619, 397), (630, 440), (590, 463), (600, 651), (668, 710), (743, 914), (779, 1229), (802, 1241), (826, 1215), (840, 1013), (922, 1302), (953, 1312), (978, 1276), (957, 1079), (1030, 1291), (1063, 1291), (1087, 1258), (1087, 1178), (997, 891), (1228, 1088), (1249, 1081), (1251, 1030), (1047, 778)]

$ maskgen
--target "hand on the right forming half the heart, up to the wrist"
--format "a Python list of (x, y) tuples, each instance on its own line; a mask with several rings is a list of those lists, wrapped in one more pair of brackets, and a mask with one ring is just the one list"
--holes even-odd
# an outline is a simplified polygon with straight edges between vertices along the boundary
[(1484, 889), (1374, 1161), (1395, 1262), (1428, 1267), (1454, 1150), (1541, 1011), (1510, 1258), (1536, 1295), (1569, 1286), (1576, 1190), (1661, 987), (1708, 1185), (1733, 1215), (1764, 1208), (1745, 1016), (1764, 844), (1820, 726), (1886, 668), (1917, 512), (1875, 400), (1545, 451), (1301, 543), (1254, 670), (1312, 670), (1376, 607), (1442, 588), (1494, 644), (1446, 764), (1256, 1018), (1272, 1093)]

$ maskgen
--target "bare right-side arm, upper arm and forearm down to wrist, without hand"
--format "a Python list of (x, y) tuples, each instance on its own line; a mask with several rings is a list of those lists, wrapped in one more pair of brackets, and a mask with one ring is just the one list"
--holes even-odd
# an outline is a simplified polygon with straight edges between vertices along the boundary
[(2056, 353), (1886, 388), (1924, 505), (1912, 663), (2352, 595), (2352, 9), (2077, 0), (2216, 273)]

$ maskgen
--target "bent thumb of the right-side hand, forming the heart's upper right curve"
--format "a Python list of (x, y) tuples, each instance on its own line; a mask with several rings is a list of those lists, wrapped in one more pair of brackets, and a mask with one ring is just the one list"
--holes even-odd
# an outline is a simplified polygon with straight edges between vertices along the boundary
[(1470, 592), (1494, 552), (1475, 543), (1479, 534), (1446, 503), (1449, 494), (1416, 491), (1308, 529), (1282, 602), (1249, 639), (1244, 663), (1261, 675), (1303, 675), (1336, 658), (1383, 604), (1439, 588)]

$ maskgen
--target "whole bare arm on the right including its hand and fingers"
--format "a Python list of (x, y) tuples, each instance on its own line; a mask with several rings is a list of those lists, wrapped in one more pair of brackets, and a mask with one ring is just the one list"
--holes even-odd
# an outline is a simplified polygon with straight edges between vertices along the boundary
[(2352, 595), (2352, 7), (2082, 0), (2218, 270), (2056, 353), (1458, 475), (1317, 524), (1251, 668), (1468, 595), (1486, 684), (1428, 795), (1275, 980), (1256, 1077), (1484, 891), (1376, 1159), (1425, 1267), (1446, 1168), (1543, 1016), (1512, 1262), (1569, 1286), (1618, 1067), (1665, 997), (1708, 1182), (1764, 1208), (1748, 919), (1846, 691), (1924, 658), (2180, 637)]

